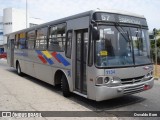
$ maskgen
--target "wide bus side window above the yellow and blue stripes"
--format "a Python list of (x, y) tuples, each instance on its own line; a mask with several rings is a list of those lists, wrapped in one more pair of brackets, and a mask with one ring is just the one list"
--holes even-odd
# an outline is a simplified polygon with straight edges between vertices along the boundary
[(66, 24), (52, 26), (49, 31), (48, 49), (51, 51), (63, 52), (65, 47)]

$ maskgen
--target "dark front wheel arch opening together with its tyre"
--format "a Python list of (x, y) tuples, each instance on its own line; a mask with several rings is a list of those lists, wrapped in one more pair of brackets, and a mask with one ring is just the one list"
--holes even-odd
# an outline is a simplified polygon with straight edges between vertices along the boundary
[(71, 92), (69, 89), (69, 83), (63, 71), (61, 70), (56, 71), (55, 77), (54, 77), (54, 84), (55, 85), (61, 84), (64, 97), (69, 97), (71, 95)]

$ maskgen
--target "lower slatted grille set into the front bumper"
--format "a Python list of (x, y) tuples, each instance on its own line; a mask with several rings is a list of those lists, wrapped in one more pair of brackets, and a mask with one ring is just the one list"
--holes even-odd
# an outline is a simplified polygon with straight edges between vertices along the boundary
[(144, 90), (144, 84), (124, 88), (124, 94), (134, 94)]

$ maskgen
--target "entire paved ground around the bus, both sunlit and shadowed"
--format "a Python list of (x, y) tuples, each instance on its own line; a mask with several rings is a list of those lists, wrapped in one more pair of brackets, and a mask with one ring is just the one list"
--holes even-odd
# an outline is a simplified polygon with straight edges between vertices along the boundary
[[(5, 60), (0, 60), (0, 111), (159, 111), (159, 91), (160, 81), (155, 81), (154, 87), (149, 91), (103, 102), (94, 102), (78, 95), (64, 98), (59, 87), (53, 87), (27, 75), (20, 77), (16, 74), (15, 69), (7, 66)], [(65, 119), (146, 119), (122, 118), (116, 114), (112, 116), (102, 118), (67, 117)], [(32, 119), (37, 120), (37, 118)], [(52, 120), (53, 118), (40, 119)], [(58, 117), (54, 119), (64, 118)], [(154, 119), (158, 120), (158, 118)]]

